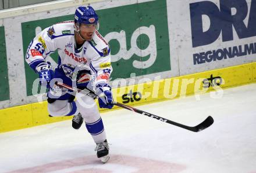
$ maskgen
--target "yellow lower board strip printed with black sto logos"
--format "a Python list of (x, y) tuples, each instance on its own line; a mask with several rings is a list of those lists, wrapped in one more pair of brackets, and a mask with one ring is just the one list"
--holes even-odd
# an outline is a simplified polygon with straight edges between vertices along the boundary
[[(140, 105), (147, 104), (148, 102), (182, 98), (194, 93), (195, 99), (198, 99), (196, 97), (197, 94), (217, 90), (215, 87), (226, 88), (253, 82), (256, 82), (256, 62), (120, 87), (119, 89), (113, 89), (113, 95), (118, 102), (123, 104)], [(215, 83), (215, 85), (212, 83)], [(114, 109), (116, 109), (116, 106)], [(100, 109), (100, 111), (104, 112), (108, 110)], [(72, 118), (49, 117), (46, 101), (1, 109), (0, 115), (2, 115), (0, 116), (0, 132), (18, 130)]]

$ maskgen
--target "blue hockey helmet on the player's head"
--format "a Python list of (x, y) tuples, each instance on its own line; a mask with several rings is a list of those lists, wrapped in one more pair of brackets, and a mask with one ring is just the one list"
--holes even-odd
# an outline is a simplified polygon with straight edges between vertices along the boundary
[(74, 22), (79, 24), (98, 24), (98, 15), (91, 6), (80, 6), (74, 13)]

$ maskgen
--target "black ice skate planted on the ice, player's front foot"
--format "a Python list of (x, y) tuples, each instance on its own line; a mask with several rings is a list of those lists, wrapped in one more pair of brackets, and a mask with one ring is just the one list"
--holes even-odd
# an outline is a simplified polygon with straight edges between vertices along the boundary
[(109, 146), (106, 140), (104, 142), (97, 143), (95, 151), (97, 151), (97, 157), (101, 159), (102, 163), (106, 163), (110, 159), (108, 150)]

